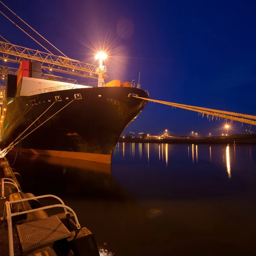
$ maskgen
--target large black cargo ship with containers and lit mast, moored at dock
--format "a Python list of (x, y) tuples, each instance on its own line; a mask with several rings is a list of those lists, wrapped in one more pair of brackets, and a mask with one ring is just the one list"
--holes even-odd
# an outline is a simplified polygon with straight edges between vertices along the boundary
[(1, 148), (22, 134), (12, 150), (111, 164), (122, 131), (147, 104), (133, 96), (148, 93), (140, 84), (105, 84), (104, 67), (95, 86), (41, 79), (40, 63), (21, 61), (3, 93)]

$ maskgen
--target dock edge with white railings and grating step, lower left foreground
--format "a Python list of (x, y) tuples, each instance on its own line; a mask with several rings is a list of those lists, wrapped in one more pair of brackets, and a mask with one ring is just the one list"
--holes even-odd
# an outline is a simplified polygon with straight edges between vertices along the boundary
[[(20, 175), (6, 158), (0, 162), (1, 256), (99, 256), (93, 234), (80, 227), (76, 213), (55, 195), (23, 193)], [(41, 206), (40, 198), (57, 204)], [(45, 210), (59, 208), (48, 216)]]

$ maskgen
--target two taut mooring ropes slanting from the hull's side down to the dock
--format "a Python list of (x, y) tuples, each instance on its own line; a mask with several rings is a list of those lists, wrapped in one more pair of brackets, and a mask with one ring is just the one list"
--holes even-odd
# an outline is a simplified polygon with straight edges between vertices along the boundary
[[(32, 131), (30, 131), (28, 134), (26, 134), (23, 138), (21, 138), (20, 140), (18, 140), (21, 135), (23, 135), (44, 113), (46, 113), (49, 108), (52, 107), (53, 104), (55, 104), (55, 102), (58, 102), (57, 100), (55, 100), (55, 102), (52, 103), (52, 105), (49, 106), (49, 108), (47, 108), (46, 111), (44, 111), (44, 113), (42, 113), (37, 119), (35, 119), (34, 122), (32, 122), (31, 125), (29, 125), (28, 128), (26, 128), (25, 131), (23, 131), (22, 134), (20, 134), (8, 147), (4, 148), (2, 151), (0, 151), (0, 158), (3, 158), (6, 156), (6, 154), (9, 153), (9, 151), (12, 150), (12, 148), (15, 147), (15, 145), (17, 145), (18, 143), (20, 143), (22, 140), (24, 140), (27, 136), (29, 136), (29, 134), (32, 134), (32, 132), (34, 132), (36, 129), (38, 129), (41, 125), (43, 125), (45, 122), (47, 122), (49, 119), (51, 119), (53, 116), (55, 116), (57, 113), (59, 113), (61, 110), (63, 110), (64, 108), (66, 108), (68, 105), (70, 105), (70, 103), (72, 103), (75, 99), (73, 99), (72, 101), (70, 101), (69, 103), (67, 103), (63, 108), (61, 108), (59, 111), (57, 111), (56, 113), (54, 113), (52, 116), (50, 116), (47, 120), (45, 120), (44, 122), (42, 122), (40, 125), (38, 125), (35, 129), (33, 129)], [(18, 140), (18, 141), (17, 141)]]

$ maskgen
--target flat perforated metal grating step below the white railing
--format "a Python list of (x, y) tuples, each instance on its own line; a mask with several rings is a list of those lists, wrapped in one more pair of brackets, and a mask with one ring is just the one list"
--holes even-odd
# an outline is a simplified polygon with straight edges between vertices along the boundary
[(57, 216), (17, 225), (23, 251), (71, 236)]

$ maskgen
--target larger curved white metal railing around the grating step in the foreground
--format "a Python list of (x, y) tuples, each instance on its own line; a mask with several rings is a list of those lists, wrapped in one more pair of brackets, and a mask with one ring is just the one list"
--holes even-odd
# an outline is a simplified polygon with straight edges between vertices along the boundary
[[(19, 202), (23, 202), (23, 201), (29, 201), (29, 200), (38, 199), (38, 198), (46, 198), (46, 197), (56, 198), (61, 202), (61, 204), (52, 204), (52, 205), (49, 205), (49, 206), (44, 206), (44, 207), (40, 207), (40, 208), (37, 208), (37, 209), (31, 209), (31, 210), (21, 211), (21, 212), (14, 212), (14, 213), (11, 212), (11, 204), (19, 203)], [(7, 223), (8, 223), (9, 256), (14, 256), (13, 235), (12, 235), (12, 217), (16, 216), (16, 215), (26, 214), (26, 213), (29, 213), (29, 212), (36, 212), (38, 210), (45, 210), (45, 209), (50, 209), (50, 208), (55, 208), (55, 207), (64, 208), (66, 216), (68, 214), (67, 209), (70, 212), (72, 212), (73, 215), (74, 215), (75, 221), (76, 221), (76, 228), (77, 229), (81, 228), (81, 226), (79, 224), (79, 221), (77, 219), (76, 213), (73, 211), (73, 209), (66, 206), (64, 204), (64, 202), (61, 200), (61, 198), (59, 198), (55, 195), (40, 195), (40, 196), (31, 197), (31, 198), (23, 198), (23, 199), (19, 199), (19, 200), (6, 201), (5, 202), (4, 210), (3, 210), (3, 218), (1, 218), (1, 221), (5, 221), (7, 219)]]

